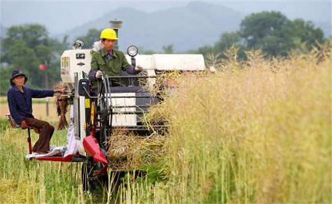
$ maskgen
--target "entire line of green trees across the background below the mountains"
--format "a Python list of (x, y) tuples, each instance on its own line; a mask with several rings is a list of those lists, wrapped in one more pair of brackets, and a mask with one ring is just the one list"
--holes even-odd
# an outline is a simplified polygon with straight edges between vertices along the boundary
[[(77, 39), (84, 42), (85, 48), (91, 48), (93, 42), (99, 40), (100, 32), (99, 29), (90, 29)], [(45, 26), (38, 24), (10, 27), (1, 40), (0, 95), (7, 94), (14, 69), (27, 73), (27, 84), (31, 87), (45, 88), (45, 72), (50, 85), (60, 81), (60, 56), (69, 48), (67, 39), (67, 36), (62, 41), (51, 38)], [(251, 49), (261, 49), (266, 57), (282, 57), (293, 49), (310, 50), (324, 40), (323, 31), (315, 28), (311, 21), (290, 20), (280, 12), (264, 11), (246, 16), (241, 21), (239, 31), (222, 33), (214, 46), (204, 46), (187, 53), (204, 56), (214, 54), (222, 59), (226, 57), (227, 49), (236, 46), (242, 59), (245, 59), (244, 52)], [(164, 45), (162, 48), (164, 53), (173, 53), (174, 50), (173, 45)], [(153, 53), (151, 50), (145, 51), (145, 54)], [(45, 64), (47, 68), (39, 70), (40, 64)]]

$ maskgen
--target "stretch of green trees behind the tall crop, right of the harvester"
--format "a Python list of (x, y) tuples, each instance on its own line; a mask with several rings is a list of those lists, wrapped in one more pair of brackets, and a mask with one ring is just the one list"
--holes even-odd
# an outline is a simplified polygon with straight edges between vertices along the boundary
[(223, 58), (225, 51), (234, 45), (242, 59), (244, 52), (251, 49), (261, 49), (266, 57), (284, 57), (294, 49), (310, 51), (324, 40), (323, 31), (311, 21), (290, 20), (280, 12), (264, 11), (246, 16), (238, 31), (223, 33), (214, 46), (192, 52), (221, 54)]

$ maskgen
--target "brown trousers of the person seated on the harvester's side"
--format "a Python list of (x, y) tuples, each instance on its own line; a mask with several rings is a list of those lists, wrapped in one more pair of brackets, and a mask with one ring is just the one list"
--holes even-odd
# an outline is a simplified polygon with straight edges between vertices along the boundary
[(54, 127), (50, 123), (35, 118), (26, 118), (27, 125), (39, 132), (39, 139), (32, 148), (33, 152), (41, 153), (50, 150), (50, 140), (52, 138)]

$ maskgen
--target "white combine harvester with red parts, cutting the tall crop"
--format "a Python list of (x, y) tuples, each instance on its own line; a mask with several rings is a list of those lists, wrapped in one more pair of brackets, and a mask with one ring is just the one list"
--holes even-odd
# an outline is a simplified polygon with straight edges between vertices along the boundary
[[(122, 21), (111, 20), (111, 28), (118, 33)], [(117, 46), (117, 42), (115, 44)], [(72, 112), (74, 122), (69, 129), (73, 134), (79, 151), (64, 156), (35, 157), (40, 161), (82, 162), (83, 187), (87, 183), (107, 174), (108, 146), (105, 141), (114, 128), (135, 131), (137, 135), (151, 133), (141, 118), (149, 111), (151, 105), (159, 102), (150, 90), (140, 86), (139, 80), (145, 80), (152, 88), (156, 78), (163, 72), (170, 71), (204, 71), (205, 63), (200, 54), (153, 54), (139, 55), (135, 46), (127, 49), (126, 58), (133, 65), (144, 68), (145, 76), (123, 73), (122, 76), (105, 76), (100, 84), (99, 95), (91, 96), (87, 75), (90, 71), (91, 49), (81, 49), (78, 44), (72, 50), (66, 50), (61, 56), (61, 79), (72, 92)], [(120, 79), (125, 85), (112, 87), (112, 80)], [(149, 88), (149, 89), (150, 89)], [(154, 129), (165, 128), (163, 124)], [(69, 131), (68, 131), (69, 134)], [(30, 136), (29, 136), (30, 137)], [(31, 142), (30, 142), (31, 145)], [(31, 152), (30, 152), (31, 153)]]

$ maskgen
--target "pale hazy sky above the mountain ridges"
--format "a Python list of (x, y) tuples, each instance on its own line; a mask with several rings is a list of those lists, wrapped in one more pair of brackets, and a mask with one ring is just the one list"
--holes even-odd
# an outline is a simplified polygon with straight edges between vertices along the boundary
[[(157, 12), (183, 7), (191, 1), (4, 1), (0, 0), (0, 23), (9, 27), (36, 22), (53, 34), (63, 33), (103, 14), (130, 7), (145, 12)], [(263, 10), (278, 10), (290, 19), (331, 22), (331, 1), (204, 1), (240, 11), (244, 14)]]

